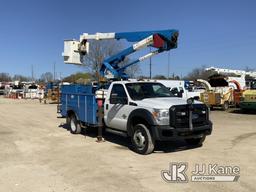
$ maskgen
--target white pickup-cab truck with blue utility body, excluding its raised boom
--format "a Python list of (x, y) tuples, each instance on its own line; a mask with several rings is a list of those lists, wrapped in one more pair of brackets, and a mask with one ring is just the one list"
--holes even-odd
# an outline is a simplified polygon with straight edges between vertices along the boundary
[(91, 85), (63, 85), (61, 92), (60, 112), (72, 133), (98, 127), (102, 118), (106, 131), (130, 137), (140, 154), (153, 152), (156, 141), (200, 145), (212, 132), (205, 104), (174, 97), (161, 83), (114, 81), (97, 91)]

